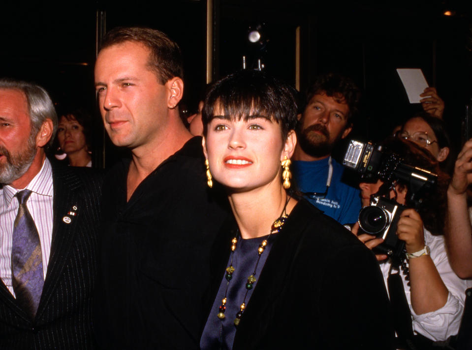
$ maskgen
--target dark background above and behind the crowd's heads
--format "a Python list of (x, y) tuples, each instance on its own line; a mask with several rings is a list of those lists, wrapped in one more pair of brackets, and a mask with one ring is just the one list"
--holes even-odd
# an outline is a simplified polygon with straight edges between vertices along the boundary
[[(395, 71), (421, 68), (446, 103), (444, 119), (457, 146), (472, 93), (472, 1), (245, 1), (215, 0), (214, 78), (240, 69), (242, 56), (262, 57), (265, 69), (295, 83), (295, 29), (301, 31), (301, 90), (316, 74), (346, 74), (363, 89), (361, 118), (352, 135), (381, 140), (420, 105), (409, 105)], [(2, 10), (0, 76), (43, 85), (58, 107), (84, 106), (95, 115), (96, 154), (103, 130), (95, 108), (93, 67), (96, 13), (106, 29), (159, 29), (183, 52), (183, 108), (196, 109), (205, 88), (206, 1), (115, 1), (22, 4)], [(453, 11), (444, 16), (445, 10)], [(248, 44), (249, 26), (264, 23), (264, 52)], [(262, 55), (262, 56), (261, 56)], [(115, 150), (106, 143), (108, 165)], [(100, 163), (100, 162), (97, 162)]]

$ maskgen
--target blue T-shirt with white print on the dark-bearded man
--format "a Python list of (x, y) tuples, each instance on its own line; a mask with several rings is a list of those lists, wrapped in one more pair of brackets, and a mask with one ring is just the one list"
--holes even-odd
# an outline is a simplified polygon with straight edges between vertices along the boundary
[[(293, 161), (292, 172), (301, 192), (324, 193), (328, 179), (329, 157), (317, 161)], [(341, 181), (344, 167), (331, 159), (333, 175), (326, 197), (305, 198), (319, 210), (324, 211), (341, 224), (357, 222), (361, 210), (360, 191)]]

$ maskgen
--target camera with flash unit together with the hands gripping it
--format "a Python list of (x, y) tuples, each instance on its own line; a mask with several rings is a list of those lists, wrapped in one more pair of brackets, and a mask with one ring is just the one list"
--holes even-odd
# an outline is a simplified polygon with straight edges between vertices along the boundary
[[(368, 246), (376, 254), (387, 255), (396, 264), (405, 259), (405, 250), (411, 253), (421, 250), (424, 247), (423, 221), (415, 210), (404, 204), (408, 199), (412, 207), (420, 208), (425, 190), (436, 185), (437, 175), (405, 164), (400, 156), (384, 152), (381, 146), (356, 140), (351, 140), (343, 164), (361, 174), (364, 181), (377, 180), (381, 184), (377, 192), (371, 194), (370, 205), (359, 212), (358, 222), (372, 240), (382, 241), (370, 242), (363, 235), (359, 235), (359, 239), (366, 245), (370, 242)], [(399, 196), (402, 199), (397, 201)], [(397, 230), (399, 223), (402, 227)]]

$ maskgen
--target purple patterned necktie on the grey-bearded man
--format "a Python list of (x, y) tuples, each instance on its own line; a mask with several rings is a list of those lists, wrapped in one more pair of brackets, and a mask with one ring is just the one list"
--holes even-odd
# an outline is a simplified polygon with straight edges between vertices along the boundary
[(17, 303), (31, 319), (34, 319), (43, 290), (44, 277), (38, 231), (26, 207), (30, 195), (30, 190), (23, 190), (15, 195), (20, 206), (13, 225), (11, 280)]

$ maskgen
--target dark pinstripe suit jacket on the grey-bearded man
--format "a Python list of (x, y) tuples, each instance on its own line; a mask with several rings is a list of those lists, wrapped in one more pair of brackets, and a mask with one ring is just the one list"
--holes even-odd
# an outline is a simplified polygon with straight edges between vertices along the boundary
[[(92, 169), (53, 166), (51, 254), (37, 314), (31, 321), (0, 281), (0, 349), (95, 348), (92, 292), (101, 182)], [(73, 206), (76, 215), (67, 215)]]

